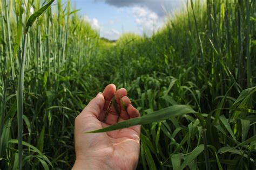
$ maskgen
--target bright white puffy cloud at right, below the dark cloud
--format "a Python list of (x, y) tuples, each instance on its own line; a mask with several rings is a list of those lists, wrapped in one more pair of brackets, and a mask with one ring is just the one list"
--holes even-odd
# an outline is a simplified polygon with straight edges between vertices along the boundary
[(159, 18), (156, 12), (146, 7), (134, 6), (132, 13), (140, 33), (146, 33), (148, 36), (151, 36), (153, 31), (157, 31), (164, 23), (163, 18)]

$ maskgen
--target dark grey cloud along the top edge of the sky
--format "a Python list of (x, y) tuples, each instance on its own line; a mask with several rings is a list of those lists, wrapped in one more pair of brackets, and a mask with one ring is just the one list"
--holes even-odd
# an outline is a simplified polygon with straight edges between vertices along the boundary
[[(151, 11), (156, 12), (159, 17), (165, 15), (165, 10), (172, 13), (173, 9), (181, 6), (181, 0), (95, 0), (96, 2), (105, 2), (106, 4), (116, 6), (117, 8), (127, 6), (144, 6)], [(164, 9), (163, 9), (164, 7)]]

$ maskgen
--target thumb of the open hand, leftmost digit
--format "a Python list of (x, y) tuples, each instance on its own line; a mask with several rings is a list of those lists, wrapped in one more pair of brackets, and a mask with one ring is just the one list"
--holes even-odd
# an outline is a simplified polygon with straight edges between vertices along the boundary
[(103, 110), (105, 99), (102, 93), (98, 93), (84, 108), (81, 114), (83, 115), (94, 115), (96, 118), (99, 117), (100, 111)]

